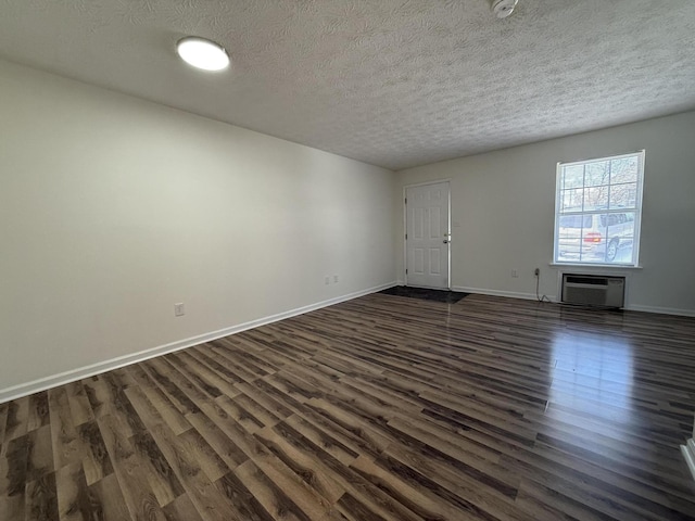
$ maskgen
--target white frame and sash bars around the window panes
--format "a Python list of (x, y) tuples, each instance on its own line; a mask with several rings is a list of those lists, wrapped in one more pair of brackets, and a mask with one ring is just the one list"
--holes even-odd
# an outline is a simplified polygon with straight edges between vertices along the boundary
[[(642, 230), (642, 194), (644, 191), (644, 150), (640, 150), (637, 152), (631, 152), (628, 154), (620, 155), (610, 155), (606, 157), (593, 157), (590, 160), (583, 161), (574, 161), (574, 162), (566, 162), (566, 163), (557, 163), (557, 171), (555, 179), (555, 231), (553, 234), (553, 265), (557, 266), (601, 266), (601, 267), (615, 267), (615, 268), (639, 268), (640, 267), (640, 237)], [(561, 211), (561, 180), (563, 180), (563, 168), (568, 166), (577, 166), (577, 165), (586, 165), (594, 162), (601, 161), (611, 161), (611, 160), (620, 160), (623, 157), (637, 157), (637, 182), (636, 182), (636, 194), (635, 194), (635, 205), (629, 207), (621, 207), (619, 212), (614, 208), (602, 208), (602, 209), (591, 209), (584, 211), (582, 208), (581, 212), (560, 212)], [(585, 183), (585, 180), (584, 180)], [(608, 183), (610, 190), (611, 183)], [(586, 185), (582, 185), (582, 187), (586, 187)], [(583, 204), (583, 203), (582, 203)], [(634, 212), (634, 236), (633, 236), (633, 246), (632, 246), (632, 259), (630, 262), (610, 262), (607, 263), (605, 260), (563, 260), (559, 258), (559, 247), (558, 247), (558, 236), (559, 236), (559, 220), (560, 216), (565, 215), (590, 215), (590, 214), (610, 214), (610, 213), (620, 213), (620, 212)], [(580, 243), (581, 247), (581, 243)]]

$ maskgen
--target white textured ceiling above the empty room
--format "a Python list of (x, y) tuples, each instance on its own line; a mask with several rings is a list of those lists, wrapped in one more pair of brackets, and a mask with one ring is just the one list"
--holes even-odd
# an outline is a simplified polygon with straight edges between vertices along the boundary
[(695, 109), (694, 50), (695, 0), (0, 0), (0, 58), (393, 169)]

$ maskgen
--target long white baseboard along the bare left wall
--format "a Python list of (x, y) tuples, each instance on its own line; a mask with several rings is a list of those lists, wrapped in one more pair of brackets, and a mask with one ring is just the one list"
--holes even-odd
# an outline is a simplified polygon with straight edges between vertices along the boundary
[(208, 333), (199, 334), (195, 336), (191, 336), (189, 339), (178, 340), (176, 342), (172, 342), (168, 344), (160, 345), (157, 347), (140, 351), (138, 353), (132, 353), (130, 355), (119, 356), (117, 358), (112, 358), (110, 360), (100, 361), (100, 363), (92, 364), (90, 366), (80, 367), (77, 369), (71, 369), (70, 371), (65, 371), (59, 374), (53, 374), (51, 377), (34, 380), (28, 383), (21, 383), (18, 385), (13, 385), (11, 387), (0, 389), (0, 404), (4, 402), (10, 402), (11, 399), (27, 396), (29, 394), (38, 393), (39, 391), (46, 391), (47, 389), (51, 389), (56, 385), (64, 385), (66, 383), (71, 383), (76, 380), (93, 377), (94, 374), (100, 374), (102, 372), (111, 371), (113, 369), (118, 369), (121, 367), (129, 366), (130, 364), (143, 361), (149, 358), (154, 358), (155, 356), (165, 355), (167, 353), (174, 353), (175, 351), (185, 350), (186, 347), (191, 347), (193, 345), (202, 344), (216, 339), (222, 339), (223, 336), (228, 336), (230, 334), (240, 333), (241, 331), (247, 331), (249, 329), (257, 328), (260, 326), (265, 326), (266, 323), (277, 322), (279, 320), (285, 320), (286, 318), (295, 317), (298, 315), (304, 315), (305, 313), (308, 313), (308, 312), (314, 312), (323, 307), (340, 304), (341, 302), (351, 301), (359, 296), (368, 295), (370, 293), (376, 293), (377, 291), (386, 290), (388, 288), (393, 288), (394, 285), (396, 285), (395, 281), (389, 282), (387, 284), (377, 285), (375, 288), (369, 288), (367, 290), (356, 291), (354, 293), (349, 293), (346, 295), (329, 298), (327, 301), (318, 302), (316, 304), (309, 304), (307, 306), (290, 309), (289, 312), (278, 313), (277, 315), (270, 315), (269, 317), (260, 318), (257, 320), (251, 320), (249, 322), (231, 326), (229, 328), (219, 329), (217, 331), (212, 331)]

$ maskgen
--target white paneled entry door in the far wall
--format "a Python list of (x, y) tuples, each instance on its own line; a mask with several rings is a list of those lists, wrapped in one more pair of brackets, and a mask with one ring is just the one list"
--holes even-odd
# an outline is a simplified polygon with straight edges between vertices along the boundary
[(407, 285), (448, 289), (448, 181), (405, 191)]

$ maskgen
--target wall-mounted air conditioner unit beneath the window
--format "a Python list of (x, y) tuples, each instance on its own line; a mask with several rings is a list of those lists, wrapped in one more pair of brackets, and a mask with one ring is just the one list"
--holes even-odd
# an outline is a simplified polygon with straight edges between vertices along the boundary
[(563, 302), (587, 306), (622, 307), (626, 278), (563, 274)]

